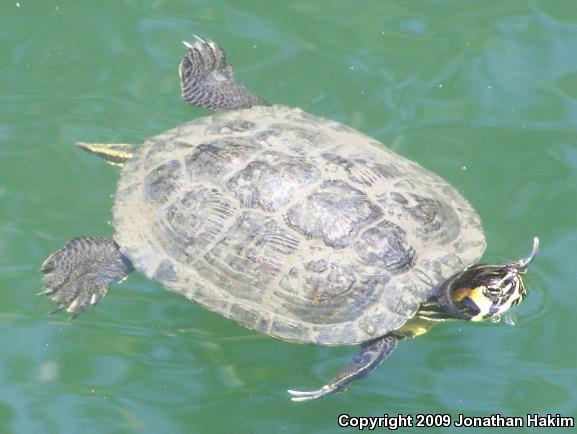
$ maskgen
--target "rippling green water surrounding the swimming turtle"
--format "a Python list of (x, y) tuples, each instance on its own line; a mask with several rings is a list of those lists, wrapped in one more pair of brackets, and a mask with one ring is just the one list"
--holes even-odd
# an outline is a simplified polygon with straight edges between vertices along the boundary
[[(577, 416), (576, 5), (1, 0), (0, 432)], [(347, 393), (291, 403), (287, 388), (322, 385), (354, 349), (257, 335), (137, 274), (75, 321), (47, 315), (41, 261), (74, 236), (112, 233), (117, 171), (73, 144), (138, 143), (205, 114), (179, 96), (191, 32), (225, 47), (258, 95), (352, 125), (458, 186), (483, 219), (486, 260), (524, 255), (539, 235), (517, 325), (440, 325)]]

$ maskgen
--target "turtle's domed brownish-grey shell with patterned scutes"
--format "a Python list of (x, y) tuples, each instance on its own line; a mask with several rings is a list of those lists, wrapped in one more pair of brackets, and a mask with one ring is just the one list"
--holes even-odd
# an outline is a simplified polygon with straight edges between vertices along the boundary
[(398, 329), (485, 249), (477, 213), (445, 180), (284, 106), (147, 140), (113, 214), (149, 278), (245, 327), (324, 345)]

